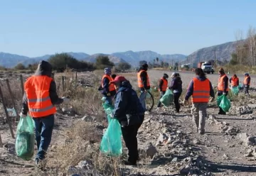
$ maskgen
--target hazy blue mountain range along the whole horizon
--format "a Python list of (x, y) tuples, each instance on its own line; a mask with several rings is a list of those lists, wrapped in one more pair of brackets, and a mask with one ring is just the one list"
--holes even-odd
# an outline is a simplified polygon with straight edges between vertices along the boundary
[[(126, 52), (112, 53), (112, 54), (104, 54), (97, 53), (94, 55), (88, 55), (86, 53), (68, 53), (72, 55), (77, 60), (84, 60), (87, 62), (95, 62), (97, 56), (106, 55), (110, 58), (110, 61), (114, 62), (114, 64), (118, 64), (119, 62), (128, 62), (132, 66), (137, 67), (139, 65), (139, 61), (146, 60), (147, 62), (153, 62), (156, 57), (159, 60), (164, 62), (171, 63), (172, 60), (174, 62), (193, 62), (196, 64), (198, 61), (208, 61), (216, 59), (219, 61), (230, 60), (230, 55), (235, 52), (236, 42), (228, 42), (220, 45), (210, 46), (208, 48), (201, 48), (196, 50), (196, 52), (191, 53), (191, 55), (182, 55), (182, 54), (174, 54), (174, 55), (161, 55), (151, 50), (146, 51), (138, 51), (134, 52), (132, 50)], [(4, 67), (14, 67), (18, 63), (22, 63), (23, 65), (29, 65), (40, 60), (48, 60), (48, 58), (52, 55), (43, 55), (41, 57), (26, 57), (23, 55), (14, 55), (9, 53), (0, 53), (0, 65)]]

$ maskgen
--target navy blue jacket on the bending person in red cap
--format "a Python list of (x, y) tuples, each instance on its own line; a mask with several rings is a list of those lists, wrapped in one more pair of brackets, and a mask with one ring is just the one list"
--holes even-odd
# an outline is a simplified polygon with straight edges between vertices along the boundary
[(112, 115), (123, 126), (132, 126), (142, 123), (140, 115), (144, 115), (144, 109), (139, 101), (137, 92), (132, 89), (129, 81), (122, 82), (114, 97), (114, 110)]

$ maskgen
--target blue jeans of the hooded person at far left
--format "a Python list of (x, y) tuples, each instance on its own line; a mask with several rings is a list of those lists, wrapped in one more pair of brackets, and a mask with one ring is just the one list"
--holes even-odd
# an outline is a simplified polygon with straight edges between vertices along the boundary
[(35, 121), (36, 126), (36, 144), (38, 148), (36, 159), (43, 160), (50, 145), (53, 133), (54, 115), (33, 118), (33, 120)]

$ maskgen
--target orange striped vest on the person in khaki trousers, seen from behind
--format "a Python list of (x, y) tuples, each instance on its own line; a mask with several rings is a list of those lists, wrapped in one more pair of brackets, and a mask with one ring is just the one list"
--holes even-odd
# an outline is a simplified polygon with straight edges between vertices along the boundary
[(203, 82), (197, 79), (196, 77), (193, 78), (193, 94), (192, 94), (192, 101), (193, 102), (200, 102), (200, 103), (207, 103), (210, 98), (210, 81), (206, 78)]

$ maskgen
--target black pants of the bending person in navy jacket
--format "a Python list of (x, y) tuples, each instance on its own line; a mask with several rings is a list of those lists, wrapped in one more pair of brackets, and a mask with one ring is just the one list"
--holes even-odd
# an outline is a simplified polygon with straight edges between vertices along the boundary
[[(144, 115), (140, 116), (142, 121), (144, 120)], [(121, 128), (122, 136), (124, 138), (124, 143), (128, 148), (128, 161), (132, 164), (136, 164), (139, 159), (139, 151), (138, 151), (138, 141), (137, 141), (137, 133), (139, 127), (142, 123), (133, 126), (124, 126)]]

